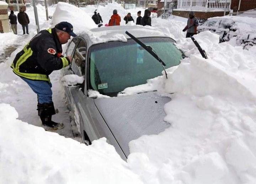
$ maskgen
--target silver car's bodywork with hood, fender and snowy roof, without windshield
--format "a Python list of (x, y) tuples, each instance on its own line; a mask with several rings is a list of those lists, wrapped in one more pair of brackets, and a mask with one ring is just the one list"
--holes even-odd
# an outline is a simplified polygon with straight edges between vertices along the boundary
[[(152, 28), (112, 26), (92, 29), (89, 33), (80, 34), (80, 38), (86, 41), (86, 52), (88, 52), (91, 45), (113, 41), (116, 38), (129, 38), (125, 34), (126, 30), (137, 38), (145, 37), (145, 33), (146, 37), (167, 37), (164, 33)], [(70, 47), (69, 45), (68, 49)], [(87, 57), (85, 60), (87, 63)], [(87, 71), (87, 64), (85, 66)], [(70, 69), (63, 70), (64, 75), (72, 73), (80, 75), (75, 68), (73, 72)], [(105, 137), (107, 142), (113, 145), (118, 154), (126, 160), (129, 155), (128, 144), (131, 140), (142, 135), (159, 134), (170, 126), (169, 123), (164, 122), (164, 104), (171, 100), (169, 97), (162, 97), (157, 91), (150, 91), (94, 99), (87, 96), (86, 78), (85, 72), (84, 88), (64, 87), (69, 108), (74, 114), (83, 140), (87, 136), (91, 141)]]

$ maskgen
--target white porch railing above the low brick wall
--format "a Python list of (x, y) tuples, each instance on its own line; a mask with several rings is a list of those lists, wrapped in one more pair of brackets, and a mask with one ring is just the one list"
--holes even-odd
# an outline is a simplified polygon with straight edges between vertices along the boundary
[(230, 10), (231, 0), (178, 0), (177, 9), (187, 10)]

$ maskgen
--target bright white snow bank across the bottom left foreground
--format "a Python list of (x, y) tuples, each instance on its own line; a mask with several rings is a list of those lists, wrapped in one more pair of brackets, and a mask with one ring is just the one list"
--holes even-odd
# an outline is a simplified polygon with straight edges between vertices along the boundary
[(86, 146), (17, 118), (0, 104), (0, 183), (142, 183), (105, 138)]

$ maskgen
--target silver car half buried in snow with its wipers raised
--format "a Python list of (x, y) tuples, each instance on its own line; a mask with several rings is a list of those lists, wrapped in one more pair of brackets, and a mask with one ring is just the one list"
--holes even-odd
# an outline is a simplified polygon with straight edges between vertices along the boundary
[(73, 61), (63, 70), (64, 75), (83, 77), (82, 84), (64, 87), (83, 141), (106, 137), (124, 160), (129, 155), (129, 141), (170, 126), (164, 122), (164, 104), (171, 100), (157, 91), (122, 92), (161, 76), (163, 70), (158, 60), (125, 34), (126, 30), (151, 46), (166, 68), (180, 64), (182, 52), (166, 34), (141, 26), (112, 26), (73, 38), (66, 50)]

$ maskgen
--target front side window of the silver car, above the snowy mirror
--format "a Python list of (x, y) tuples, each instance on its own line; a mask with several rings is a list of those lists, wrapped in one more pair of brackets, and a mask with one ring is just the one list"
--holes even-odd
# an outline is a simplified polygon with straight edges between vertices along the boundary
[(81, 40), (75, 49), (71, 63), (73, 72), (78, 76), (83, 76), (85, 74), (86, 51), (86, 43), (84, 40)]

